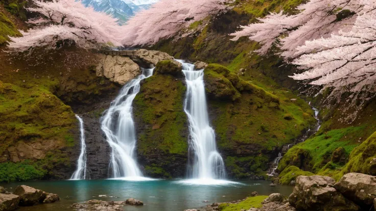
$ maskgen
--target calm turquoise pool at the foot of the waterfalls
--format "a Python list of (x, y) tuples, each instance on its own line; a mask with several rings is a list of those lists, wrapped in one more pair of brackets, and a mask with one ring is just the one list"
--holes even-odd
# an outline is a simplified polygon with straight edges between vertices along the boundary
[[(281, 193), (288, 196), (292, 193), (291, 186), (270, 187), (269, 181), (242, 180), (239, 183), (222, 186), (192, 185), (182, 183), (182, 180), (154, 181), (124, 181), (124, 180), (63, 180), (63, 181), (30, 181), (0, 184), (14, 190), (20, 184), (26, 184), (36, 189), (56, 193), (61, 200), (52, 204), (41, 204), (31, 207), (21, 207), (19, 210), (72, 210), (70, 204), (84, 202), (90, 199), (124, 201), (135, 198), (144, 202), (144, 206), (126, 205), (127, 211), (137, 210), (184, 210), (200, 208), (214, 202), (226, 202), (243, 199), (251, 192), (260, 195)], [(12, 189), (10, 189), (12, 188)], [(107, 195), (112, 197), (99, 197)], [(115, 198), (116, 197), (116, 198)], [(203, 202), (207, 200), (208, 202)]]

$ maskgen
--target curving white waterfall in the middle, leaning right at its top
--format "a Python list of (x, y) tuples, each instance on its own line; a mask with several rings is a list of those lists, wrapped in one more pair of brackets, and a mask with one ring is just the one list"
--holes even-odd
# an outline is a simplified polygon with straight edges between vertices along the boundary
[(140, 90), (140, 81), (153, 75), (154, 69), (144, 69), (143, 74), (127, 83), (102, 117), (101, 128), (111, 147), (110, 169), (113, 178), (145, 180), (134, 156), (136, 133), (132, 117), (132, 102)]

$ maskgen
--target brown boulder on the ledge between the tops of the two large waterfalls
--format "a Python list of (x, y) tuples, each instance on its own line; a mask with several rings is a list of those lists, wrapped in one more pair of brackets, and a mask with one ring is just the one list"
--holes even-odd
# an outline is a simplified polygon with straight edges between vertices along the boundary
[(153, 67), (162, 60), (174, 60), (174, 58), (165, 52), (157, 50), (138, 49), (134, 52), (131, 59), (143, 67)]

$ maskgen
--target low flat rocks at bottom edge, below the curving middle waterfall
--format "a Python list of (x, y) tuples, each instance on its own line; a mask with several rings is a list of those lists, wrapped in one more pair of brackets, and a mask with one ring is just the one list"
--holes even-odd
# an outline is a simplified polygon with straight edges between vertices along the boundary
[(125, 205), (124, 201), (102, 201), (102, 200), (89, 200), (85, 203), (75, 203), (70, 207), (80, 211), (122, 211)]

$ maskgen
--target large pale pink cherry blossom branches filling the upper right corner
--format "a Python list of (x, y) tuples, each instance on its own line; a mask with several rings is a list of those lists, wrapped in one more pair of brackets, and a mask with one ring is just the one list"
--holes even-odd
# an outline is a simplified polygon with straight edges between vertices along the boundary
[(294, 74), (295, 80), (374, 91), (376, 0), (311, 0), (297, 9), (295, 15), (273, 13), (242, 27), (232, 40), (248, 36), (262, 44), (257, 52), (264, 55), (278, 46), (287, 61), (307, 70)]

